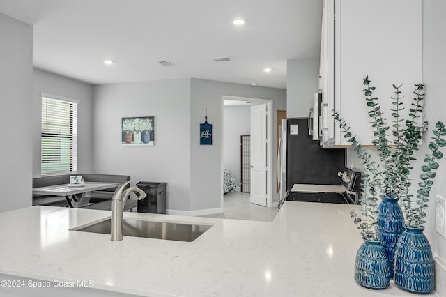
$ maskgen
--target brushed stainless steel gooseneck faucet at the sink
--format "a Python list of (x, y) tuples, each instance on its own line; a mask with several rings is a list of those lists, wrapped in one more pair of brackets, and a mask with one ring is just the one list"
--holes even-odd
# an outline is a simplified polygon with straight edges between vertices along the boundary
[(124, 188), (130, 183), (126, 181), (116, 188), (112, 198), (112, 241), (123, 240), (123, 212), (124, 204), (127, 201), (130, 193), (134, 192), (137, 195), (137, 199), (141, 200), (146, 197), (146, 193), (137, 187)]

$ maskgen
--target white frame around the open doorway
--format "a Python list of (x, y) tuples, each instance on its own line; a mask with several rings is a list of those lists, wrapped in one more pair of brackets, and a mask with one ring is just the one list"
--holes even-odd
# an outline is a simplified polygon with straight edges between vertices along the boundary
[[(223, 209), (224, 201), (223, 201), (223, 114), (224, 114), (224, 106), (223, 102), (224, 100), (238, 100), (238, 101), (249, 101), (254, 102), (258, 104), (266, 104), (266, 116), (267, 116), (267, 125), (266, 125), (266, 135), (268, 140), (266, 142), (266, 158), (267, 158), (267, 165), (266, 165), (266, 207), (275, 207), (274, 203), (272, 202), (272, 191), (275, 190), (274, 187), (274, 178), (272, 174), (275, 174), (275, 160), (273, 158), (272, 153), (272, 144), (274, 143), (273, 139), (273, 131), (272, 131), (272, 122), (273, 122), (273, 101), (268, 99), (261, 99), (261, 98), (249, 98), (249, 97), (241, 97), (241, 96), (229, 96), (229, 95), (222, 95), (221, 98), (221, 116), (220, 116), (220, 189), (221, 189), (221, 201), (220, 201), (220, 207)], [(277, 205), (277, 204), (276, 204)]]

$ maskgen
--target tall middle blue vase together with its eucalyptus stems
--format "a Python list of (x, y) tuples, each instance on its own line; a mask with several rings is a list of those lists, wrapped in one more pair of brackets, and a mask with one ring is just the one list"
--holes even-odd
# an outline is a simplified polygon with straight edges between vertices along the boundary
[[(403, 231), (403, 212), (398, 204), (399, 199), (399, 189), (401, 182), (398, 178), (398, 174), (401, 173), (399, 168), (399, 155), (393, 154), (390, 151), (389, 141), (387, 140), (387, 130), (389, 127), (386, 126), (385, 119), (383, 119), (383, 113), (381, 112), (380, 106), (377, 102), (378, 98), (373, 96), (375, 87), (370, 86), (370, 80), (368, 77), (364, 78), (364, 85), (367, 86), (364, 89), (365, 100), (367, 102), (367, 107), (371, 110), (369, 111), (369, 118), (371, 119), (372, 128), (374, 128), (374, 136), (376, 139), (372, 142), (379, 152), (380, 162), (382, 165), (376, 164), (375, 161), (371, 159), (370, 153), (363, 148), (359, 141), (357, 141), (356, 136), (352, 135), (350, 132), (350, 127), (346, 124), (344, 119), (339, 116), (338, 112), (334, 112), (334, 120), (339, 122), (341, 131), (344, 132), (344, 138), (348, 142), (351, 142), (351, 147), (353, 151), (360, 157), (366, 170), (368, 172), (367, 176), (369, 178), (369, 184), (372, 185), (373, 195), (377, 195), (381, 198), (381, 202), (378, 206), (378, 212), (376, 213), (377, 229), (379, 231), (378, 236), (382, 241), (383, 248), (387, 254), (387, 259), (390, 266), (390, 276), (393, 276), (393, 263), (394, 263), (394, 247), (397, 244), (397, 240), (401, 232)], [(401, 86), (394, 86), (396, 89), (394, 99), (395, 110), (392, 116), (396, 119), (394, 127), (394, 135), (397, 135), (397, 141), (401, 141), (402, 132), (399, 123), (399, 108), (402, 104), (399, 102), (400, 93), (399, 88)], [(397, 146), (401, 148), (401, 146)], [(407, 157), (410, 158), (410, 157)], [(397, 177), (395, 177), (397, 176)], [(401, 176), (401, 175), (400, 175)], [(406, 178), (406, 173), (403, 174), (404, 179)]]

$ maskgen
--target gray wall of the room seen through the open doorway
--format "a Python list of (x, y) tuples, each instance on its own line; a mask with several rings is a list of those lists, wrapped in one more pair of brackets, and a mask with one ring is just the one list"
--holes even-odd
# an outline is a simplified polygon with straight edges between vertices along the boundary
[(225, 106), (223, 109), (223, 166), (231, 170), (240, 187), (240, 135), (251, 133), (251, 106)]

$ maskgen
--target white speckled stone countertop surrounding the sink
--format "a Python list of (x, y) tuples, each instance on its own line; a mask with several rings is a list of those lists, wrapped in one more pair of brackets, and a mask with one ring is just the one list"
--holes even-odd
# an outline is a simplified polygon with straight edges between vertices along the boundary
[(355, 207), (286, 201), (273, 222), (124, 214), (214, 224), (192, 243), (129, 236), (114, 242), (108, 234), (69, 231), (110, 211), (22, 208), (0, 213), (0, 273), (91, 280), (95, 289), (141, 296), (412, 295), (393, 281), (380, 291), (356, 284), (362, 239), (349, 215)]

